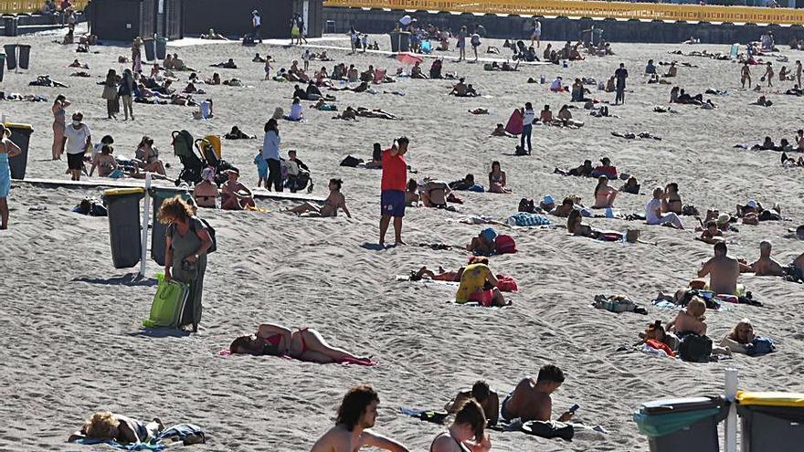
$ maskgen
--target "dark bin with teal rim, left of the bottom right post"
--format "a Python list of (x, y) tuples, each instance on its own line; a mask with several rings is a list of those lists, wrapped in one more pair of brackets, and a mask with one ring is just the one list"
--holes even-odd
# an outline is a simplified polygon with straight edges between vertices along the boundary
[(633, 418), (651, 452), (718, 452), (717, 424), (726, 415), (722, 397), (689, 397), (643, 404)]

